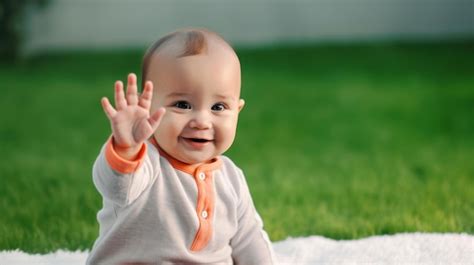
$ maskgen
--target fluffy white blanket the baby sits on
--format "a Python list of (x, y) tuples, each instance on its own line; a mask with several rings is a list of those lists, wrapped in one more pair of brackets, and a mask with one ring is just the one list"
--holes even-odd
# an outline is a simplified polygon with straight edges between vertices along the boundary
[[(273, 247), (280, 264), (474, 264), (474, 235), (468, 234), (405, 233), (358, 240), (311, 236), (274, 242)], [(87, 254), (0, 251), (0, 264), (79, 265)]]

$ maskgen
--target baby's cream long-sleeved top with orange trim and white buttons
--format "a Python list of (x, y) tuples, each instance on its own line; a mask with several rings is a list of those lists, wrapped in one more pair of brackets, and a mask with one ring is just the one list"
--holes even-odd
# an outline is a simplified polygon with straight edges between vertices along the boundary
[(94, 163), (103, 208), (87, 264), (275, 263), (245, 177), (229, 158), (186, 166), (154, 142), (140, 153), (123, 161), (109, 139)]

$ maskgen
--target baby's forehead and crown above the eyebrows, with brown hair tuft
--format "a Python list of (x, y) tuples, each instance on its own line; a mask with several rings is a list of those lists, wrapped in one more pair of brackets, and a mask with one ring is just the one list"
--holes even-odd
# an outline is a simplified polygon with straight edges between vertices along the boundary
[(232, 86), (238, 86), (240, 94), (240, 62), (235, 51), (219, 35), (206, 30), (184, 30), (163, 37), (147, 51), (142, 70), (143, 80), (153, 81), (156, 88), (196, 73), (213, 72), (212, 80), (232, 76)]

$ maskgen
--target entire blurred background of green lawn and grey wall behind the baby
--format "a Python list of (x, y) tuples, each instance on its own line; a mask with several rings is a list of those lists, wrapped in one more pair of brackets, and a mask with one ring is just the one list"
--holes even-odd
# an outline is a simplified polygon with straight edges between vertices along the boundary
[(100, 98), (189, 25), (241, 59), (226, 155), (272, 241), (474, 234), (473, 17), (471, 0), (0, 0), (0, 250), (92, 247)]

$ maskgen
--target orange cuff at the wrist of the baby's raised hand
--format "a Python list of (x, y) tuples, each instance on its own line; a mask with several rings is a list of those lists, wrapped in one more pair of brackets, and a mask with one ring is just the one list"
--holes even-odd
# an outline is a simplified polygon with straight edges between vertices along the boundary
[(137, 157), (135, 160), (130, 161), (119, 156), (114, 149), (114, 144), (111, 136), (107, 141), (107, 146), (105, 147), (105, 158), (109, 162), (110, 167), (122, 174), (128, 174), (135, 172), (143, 162), (146, 154), (146, 144), (143, 143), (140, 151), (138, 151)]

